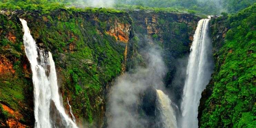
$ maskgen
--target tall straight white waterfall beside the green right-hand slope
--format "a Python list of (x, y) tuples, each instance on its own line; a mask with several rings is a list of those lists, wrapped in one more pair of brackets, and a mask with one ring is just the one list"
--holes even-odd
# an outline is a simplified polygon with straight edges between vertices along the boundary
[(181, 102), (181, 127), (198, 127), (198, 106), (201, 93), (209, 83), (213, 72), (212, 46), (209, 38), (209, 21), (202, 19), (197, 24), (194, 41), (190, 48), (187, 76)]

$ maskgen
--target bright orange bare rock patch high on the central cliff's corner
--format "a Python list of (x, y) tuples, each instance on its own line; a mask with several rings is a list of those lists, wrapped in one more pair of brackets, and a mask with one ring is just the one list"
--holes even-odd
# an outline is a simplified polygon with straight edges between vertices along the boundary
[(114, 27), (111, 27), (107, 33), (110, 36), (113, 36), (116, 38), (116, 40), (122, 41), (122, 42), (128, 42), (129, 41), (129, 31), (130, 31), (130, 25), (120, 23), (118, 21), (115, 21)]

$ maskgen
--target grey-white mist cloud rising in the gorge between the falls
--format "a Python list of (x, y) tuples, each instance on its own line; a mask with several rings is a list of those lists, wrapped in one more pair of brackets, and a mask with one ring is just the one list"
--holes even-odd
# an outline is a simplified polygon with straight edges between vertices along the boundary
[(109, 91), (106, 110), (108, 128), (144, 128), (150, 124), (150, 120), (141, 118), (143, 114), (138, 112), (140, 93), (149, 86), (164, 89), (166, 66), (158, 50), (147, 50), (145, 55), (147, 67), (138, 66), (119, 76)]

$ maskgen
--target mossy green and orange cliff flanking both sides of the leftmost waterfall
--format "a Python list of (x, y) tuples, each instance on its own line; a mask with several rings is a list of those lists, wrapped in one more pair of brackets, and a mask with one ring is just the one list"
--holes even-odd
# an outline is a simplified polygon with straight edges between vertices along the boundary
[[(102, 125), (105, 87), (126, 69), (131, 19), (125, 12), (56, 10), (0, 14), (0, 126), (33, 127), (33, 84), (19, 18), (27, 20), (38, 47), (51, 51), (63, 104), (79, 126)], [(97, 125), (96, 125), (97, 124)], [(94, 124), (91, 124), (93, 126)]]

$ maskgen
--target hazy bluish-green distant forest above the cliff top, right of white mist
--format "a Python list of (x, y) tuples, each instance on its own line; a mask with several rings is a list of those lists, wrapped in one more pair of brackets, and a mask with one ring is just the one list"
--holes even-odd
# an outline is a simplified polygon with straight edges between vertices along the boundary
[(252, 5), (255, 0), (117, 0), (118, 4), (160, 8), (186, 8), (200, 13), (219, 14), (220, 12), (236, 12)]

